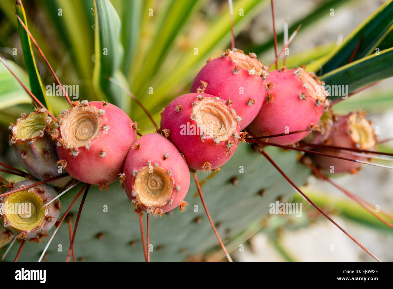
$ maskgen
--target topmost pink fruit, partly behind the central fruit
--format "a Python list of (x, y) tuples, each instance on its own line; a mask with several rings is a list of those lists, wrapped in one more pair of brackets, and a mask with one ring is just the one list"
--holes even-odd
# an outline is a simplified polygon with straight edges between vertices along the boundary
[(264, 89), (269, 68), (260, 63), (255, 53), (227, 50), (208, 63), (196, 75), (190, 93), (205, 92), (218, 96), (235, 109), (244, 129), (261, 109), (266, 96)]

